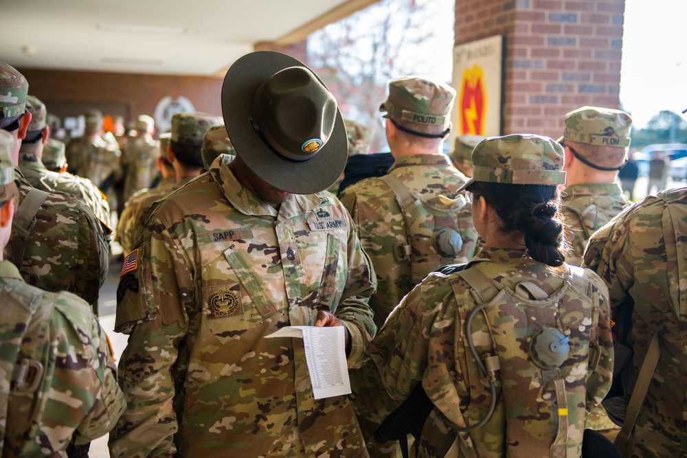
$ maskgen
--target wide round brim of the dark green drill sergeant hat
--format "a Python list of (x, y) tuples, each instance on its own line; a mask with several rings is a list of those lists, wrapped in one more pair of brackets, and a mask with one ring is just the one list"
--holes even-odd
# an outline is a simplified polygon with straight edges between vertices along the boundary
[(313, 194), (333, 185), (346, 166), (348, 137), (339, 108), (329, 140), (307, 161), (292, 161), (273, 152), (249, 122), (260, 84), (289, 67), (308, 68), (300, 60), (275, 51), (256, 51), (236, 60), (222, 84), (222, 115), (236, 154), (260, 179), (292, 194)]

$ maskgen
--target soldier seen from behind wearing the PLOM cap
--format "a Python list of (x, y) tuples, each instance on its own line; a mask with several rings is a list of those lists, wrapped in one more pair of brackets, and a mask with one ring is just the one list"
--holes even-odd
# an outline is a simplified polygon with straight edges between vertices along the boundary
[(563, 190), (563, 216), (570, 227), (572, 253), (566, 262), (582, 264), (592, 234), (629, 205), (618, 181), (627, 158), (632, 118), (620, 110), (583, 106), (565, 115), (567, 178)]

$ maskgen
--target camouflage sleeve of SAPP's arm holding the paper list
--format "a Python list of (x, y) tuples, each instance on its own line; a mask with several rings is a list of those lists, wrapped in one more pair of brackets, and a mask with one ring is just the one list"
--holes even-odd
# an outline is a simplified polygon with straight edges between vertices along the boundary
[(350, 335), (351, 351), (348, 367), (360, 367), (365, 349), (376, 333), (374, 313), (368, 305), (370, 296), (376, 290), (374, 269), (368, 255), (363, 251), (357, 230), (347, 215), (350, 226), (348, 237), (348, 277), (335, 316), (343, 320)]

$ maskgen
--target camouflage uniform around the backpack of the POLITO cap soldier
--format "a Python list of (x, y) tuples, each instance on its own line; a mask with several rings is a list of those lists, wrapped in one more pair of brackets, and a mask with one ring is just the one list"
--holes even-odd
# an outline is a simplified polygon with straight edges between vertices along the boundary
[[(465, 177), (451, 167), (443, 154), (416, 154), (394, 162), (390, 174), (398, 176), (410, 192), (422, 196), (423, 201), (439, 195), (455, 198)], [(370, 256), (377, 278), (377, 292), (370, 298), (374, 323), (381, 327), (394, 307), (415, 286), (411, 280), (409, 262), (399, 262), (394, 254), (397, 244), (407, 243), (407, 228), (396, 194), (379, 178), (365, 179), (347, 187), (341, 193), (358, 229), (365, 253)], [(472, 209), (466, 205), (458, 214), (458, 227), (463, 245), (459, 255), (468, 262), (475, 254), (477, 232), (473, 227)], [(436, 265), (434, 268), (438, 268)], [(374, 450), (374, 425), (393, 411), (398, 403), (386, 396), (373, 365), (365, 365), (350, 372), (356, 414), (369, 420), (371, 426), (363, 431), (368, 449)], [(383, 449), (387, 446), (381, 446)], [(378, 456), (394, 456), (372, 452)]]

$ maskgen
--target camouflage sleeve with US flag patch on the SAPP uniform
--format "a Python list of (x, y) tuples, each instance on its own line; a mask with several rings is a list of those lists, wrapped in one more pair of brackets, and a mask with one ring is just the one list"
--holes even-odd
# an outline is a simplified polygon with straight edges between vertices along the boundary
[(137, 324), (120, 360), (128, 408), (110, 436), (113, 457), (176, 452), (174, 363), (188, 333), (186, 308), (193, 306), (194, 284), (177, 240), (156, 216), (151, 221), (155, 231), (146, 230), (137, 247), (140, 263), (124, 272), (117, 288), (117, 321), (121, 316), (123, 322), (137, 319)]

